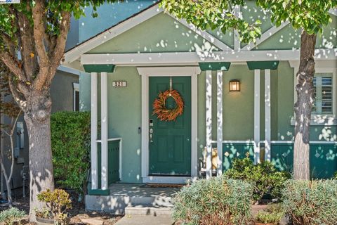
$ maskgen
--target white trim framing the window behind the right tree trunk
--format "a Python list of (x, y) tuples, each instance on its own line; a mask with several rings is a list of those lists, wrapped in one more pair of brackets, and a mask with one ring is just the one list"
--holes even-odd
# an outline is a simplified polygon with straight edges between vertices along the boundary
[[(299, 61), (289, 61), (291, 68), (293, 68), (293, 103), (297, 101), (296, 74), (298, 72)], [(315, 60), (315, 73), (331, 73), (332, 74), (332, 114), (312, 114), (310, 125), (313, 126), (332, 126), (337, 125), (337, 68), (336, 60)], [(291, 117), (291, 125), (295, 125), (295, 112)]]

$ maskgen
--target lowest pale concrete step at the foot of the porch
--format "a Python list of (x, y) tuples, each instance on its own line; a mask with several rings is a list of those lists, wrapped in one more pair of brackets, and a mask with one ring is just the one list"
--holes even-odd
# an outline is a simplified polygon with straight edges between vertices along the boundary
[(172, 207), (155, 207), (152, 205), (130, 205), (125, 208), (126, 215), (142, 215), (142, 216), (161, 216), (171, 215)]

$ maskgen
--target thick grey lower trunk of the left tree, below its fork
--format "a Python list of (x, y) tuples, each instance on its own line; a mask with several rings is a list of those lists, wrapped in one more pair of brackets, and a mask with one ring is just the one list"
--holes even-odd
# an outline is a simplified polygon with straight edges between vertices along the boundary
[(29, 136), (29, 220), (35, 221), (34, 208), (44, 207), (44, 203), (37, 200), (37, 194), (54, 189), (49, 91), (33, 91), (27, 99), (25, 122)]

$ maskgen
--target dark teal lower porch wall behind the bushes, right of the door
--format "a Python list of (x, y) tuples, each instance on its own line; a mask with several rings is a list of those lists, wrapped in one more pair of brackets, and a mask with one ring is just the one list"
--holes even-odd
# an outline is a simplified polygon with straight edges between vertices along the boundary
[[(263, 151), (264, 143), (260, 142)], [(280, 171), (293, 170), (293, 142), (271, 141), (270, 162)], [(236, 158), (254, 160), (253, 141), (223, 141), (223, 171), (229, 169)], [(337, 142), (310, 142), (310, 176), (312, 179), (329, 179), (337, 171)]]

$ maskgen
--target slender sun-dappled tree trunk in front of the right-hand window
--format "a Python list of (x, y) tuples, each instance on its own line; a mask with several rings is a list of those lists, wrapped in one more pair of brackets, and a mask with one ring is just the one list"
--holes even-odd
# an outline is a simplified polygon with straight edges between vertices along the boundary
[(310, 119), (314, 102), (316, 34), (308, 34), (303, 30), (300, 37), (300, 67), (297, 72), (297, 101), (294, 105), (296, 113), (295, 141), (293, 144), (293, 178), (310, 179)]

